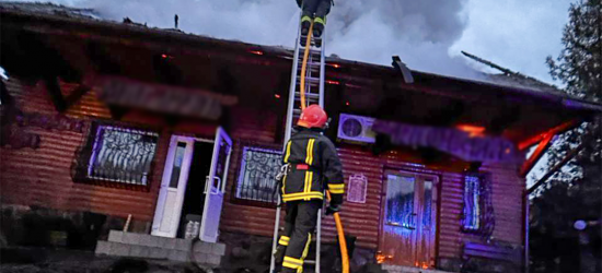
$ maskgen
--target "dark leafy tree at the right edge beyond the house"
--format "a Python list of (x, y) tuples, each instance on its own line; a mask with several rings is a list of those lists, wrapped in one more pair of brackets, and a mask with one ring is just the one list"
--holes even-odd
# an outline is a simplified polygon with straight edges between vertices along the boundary
[[(602, 3), (579, 0), (570, 5), (560, 55), (547, 58), (551, 74), (575, 97), (602, 103)], [(532, 200), (531, 272), (600, 272), (600, 224), (583, 232), (578, 219), (600, 223), (602, 207), (602, 118), (600, 115), (560, 135), (548, 152), (547, 169), (583, 145), (562, 174)], [(563, 247), (558, 247), (563, 246)], [(579, 265), (580, 270), (579, 270)]]

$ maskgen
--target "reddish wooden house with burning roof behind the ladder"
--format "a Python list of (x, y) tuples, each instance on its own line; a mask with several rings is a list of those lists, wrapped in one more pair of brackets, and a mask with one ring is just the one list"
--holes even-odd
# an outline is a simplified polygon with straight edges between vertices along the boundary
[[(183, 238), (196, 215), (200, 241), (225, 245), (215, 264), (269, 246), (292, 51), (89, 13), (0, 3), (4, 237), (35, 244), (23, 236), (35, 214), (49, 242), (63, 232), (63, 246), (92, 249), (126, 222), (129, 234)], [(354, 269), (521, 271), (525, 174), (541, 155), (525, 152), (602, 106), (516, 74), (413, 71), (407, 84), (393, 67), (326, 67)], [(335, 234), (326, 217), (324, 241)]]

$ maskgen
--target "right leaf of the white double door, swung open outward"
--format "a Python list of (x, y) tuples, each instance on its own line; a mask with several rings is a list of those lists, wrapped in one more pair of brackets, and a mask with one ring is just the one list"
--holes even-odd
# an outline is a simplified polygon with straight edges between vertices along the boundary
[(218, 128), (213, 145), (213, 158), (211, 169), (205, 183), (205, 207), (202, 209), (202, 223), (200, 224), (200, 239), (208, 242), (218, 241), (218, 227), (220, 225), (221, 206), (223, 204), (223, 191), (228, 176), (232, 140)]

